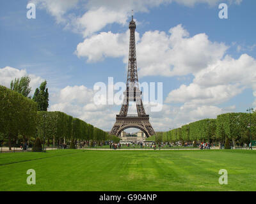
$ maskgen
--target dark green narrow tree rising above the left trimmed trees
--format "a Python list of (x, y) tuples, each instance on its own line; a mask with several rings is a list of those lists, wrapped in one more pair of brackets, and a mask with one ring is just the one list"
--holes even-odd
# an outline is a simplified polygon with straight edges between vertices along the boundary
[(46, 85), (46, 81), (42, 82), (39, 89), (36, 88), (35, 94), (33, 96), (33, 100), (38, 103), (37, 109), (39, 111), (47, 111), (47, 108), (49, 106), (49, 93)]

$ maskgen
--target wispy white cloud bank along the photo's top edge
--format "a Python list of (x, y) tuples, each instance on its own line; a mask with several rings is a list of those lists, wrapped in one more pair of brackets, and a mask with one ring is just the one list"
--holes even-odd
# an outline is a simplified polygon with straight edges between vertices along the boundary
[[(83, 33), (84, 37), (100, 31), (108, 24), (124, 25), (127, 18), (134, 12), (148, 12), (150, 8), (161, 4), (179, 3), (184, 6), (194, 6), (198, 3), (216, 5), (221, 0), (29, 0), (39, 8), (47, 10), (56, 18), (57, 23), (65, 23), (74, 31)], [(242, 0), (229, 0), (240, 4)], [(79, 4), (80, 2), (80, 4)], [(83, 15), (77, 16), (68, 12), (74, 8), (81, 9)], [(79, 12), (80, 13), (80, 12)]]

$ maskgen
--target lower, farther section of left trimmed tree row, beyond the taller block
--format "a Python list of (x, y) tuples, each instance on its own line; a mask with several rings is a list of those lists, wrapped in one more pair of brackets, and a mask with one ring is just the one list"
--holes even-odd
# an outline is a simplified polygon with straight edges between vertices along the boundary
[(93, 142), (100, 144), (113, 138), (102, 129), (66, 113), (45, 111), (36, 113), (35, 134), (47, 146), (68, 143), (70, 148), (76, 148), (76, 144), (81, 142), (86, 142), (88, 145), (92, 145)]

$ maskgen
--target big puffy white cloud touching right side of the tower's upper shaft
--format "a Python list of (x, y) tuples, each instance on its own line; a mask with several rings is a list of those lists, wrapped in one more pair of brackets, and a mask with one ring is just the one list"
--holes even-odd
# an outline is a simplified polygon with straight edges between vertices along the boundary
[(182, 25), (171, 28), (169, 33), (154, 31), (143, 34), (138, 43), (140, 76), (195, 73), (221, 59), (228, 48), (223, 43), (209, 41), (204, 33), (189, 37)]

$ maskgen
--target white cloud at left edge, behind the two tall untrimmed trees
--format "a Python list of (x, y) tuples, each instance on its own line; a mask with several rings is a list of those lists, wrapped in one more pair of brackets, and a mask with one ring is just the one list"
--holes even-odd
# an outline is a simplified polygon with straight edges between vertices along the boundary
[(24, 76), (30, 77), (31, 81), (29, 85), (31, 86), (31, 92), (29, 95), (33, 95), (35, 89), (40, 86), (44, 81), (41, 77), (36, 77), (35, 75), (28, 74), (26, 69), (16, 69), (10, 66), (0, 69), (0, 84), (10, 88), (12, 80), (15, 78), (21, 78)]

